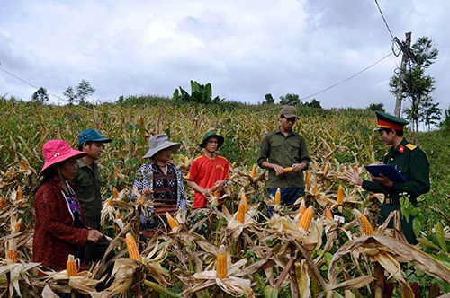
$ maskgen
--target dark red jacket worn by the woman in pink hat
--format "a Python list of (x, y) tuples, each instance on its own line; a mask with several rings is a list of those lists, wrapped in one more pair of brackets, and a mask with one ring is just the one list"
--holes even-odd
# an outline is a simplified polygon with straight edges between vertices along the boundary
[[(34, 237), (32, 261), (55, 271), (66, 268), (69, 254), (85, 246), (88, 230), (76, 228), (61, 193), (58, 177), (42, 184), (34, 196)], [(78, 198), (76, 197), (76, 201)], [(79, 205), (79, 201), (78, 201)], [(85, 223), (85, 215), (81, 210)]]

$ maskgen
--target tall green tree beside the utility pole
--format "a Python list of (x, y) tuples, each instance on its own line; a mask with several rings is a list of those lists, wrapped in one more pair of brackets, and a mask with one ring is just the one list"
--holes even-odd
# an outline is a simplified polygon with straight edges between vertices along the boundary
[[(433, 48), (433, 43), (428, 37), (421, 37), (411, 47), (415, 57), (415, 64), (410, 67), (410, 71), (405, 74), (403, 82), (403, 99), (410, 100), (410, 107), (404, 112), (410, 118), (413, 131), (419, 131), (419, 123), (428, 120), (435, 121), (434, 118), (440, 115), (437, 113), (437, 105), (433, 103), (430, 93), (435, 87), (435, 79), (425, 74), (425, 71), (437, 59), (439, 51)], [(398, 74), (392, 76), (389, 83), (392, 94), (397, 94)]]

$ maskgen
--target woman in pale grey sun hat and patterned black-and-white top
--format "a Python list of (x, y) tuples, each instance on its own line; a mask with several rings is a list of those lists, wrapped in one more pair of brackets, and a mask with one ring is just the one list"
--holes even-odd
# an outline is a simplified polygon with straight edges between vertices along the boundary
[(180, 143), (170, 142), (166, 134), (151, 136), (149, 150), (143, 158), (147, 163), (140, 166), (134, 180), (134, 188), (140, 195), (153, 200), (153, 208), (140, 215), (140, 234), (145, 241), (157, 229), (167, 226), (166, 212), (174, 215), (186, 208), (183, 175), (179, 167), (169, 162), (172, 153), (180, 148)]

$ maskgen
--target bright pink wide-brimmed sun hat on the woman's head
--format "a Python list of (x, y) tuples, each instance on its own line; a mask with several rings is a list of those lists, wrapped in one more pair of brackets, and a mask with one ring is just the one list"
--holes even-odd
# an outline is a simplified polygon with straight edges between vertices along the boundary
[(80, 158), (87, 155), (87, 153), (72, 149), (64, 140), (50, 140), (42, 146), (42, 155), (45, 162), (39, 176), (53, 164), (67, 161), (72, 157)]

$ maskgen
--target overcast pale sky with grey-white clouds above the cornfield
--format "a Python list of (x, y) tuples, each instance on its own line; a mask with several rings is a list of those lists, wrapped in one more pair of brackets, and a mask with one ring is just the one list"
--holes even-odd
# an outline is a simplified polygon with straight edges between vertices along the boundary
[[(378, 4), (392, 36), (433, 40), (431, 95), (448, 109), (450, 2)], [(64, 98), (86, 80), (91, 101), (171, 97), (195, 80), (229, 101), (294, 93), (323, 108), (383, 103), (393, 113), (392, 36), (372, 0), (0, 0), (0, 95), (28, 101), (33, 85)]]

